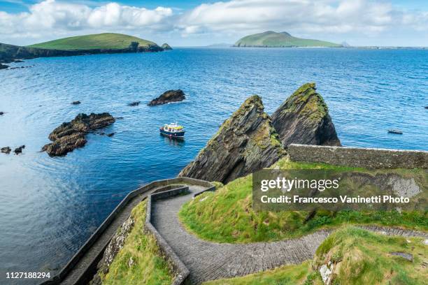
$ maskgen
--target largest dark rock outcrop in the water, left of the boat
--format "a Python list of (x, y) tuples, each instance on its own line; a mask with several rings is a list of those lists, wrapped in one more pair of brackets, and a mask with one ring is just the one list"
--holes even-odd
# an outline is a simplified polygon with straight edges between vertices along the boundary
[(51, 143), (45, 145), (42, 151), (50, 156), (64, 156), (78, 147), (83, 147), (87, 140), (85, 136), (90, 131), (102, 129), (115, 122), (115, 118), (107, 112), (101, 114), (79, 114), (71, 122), (62, 123), (49, 135)]

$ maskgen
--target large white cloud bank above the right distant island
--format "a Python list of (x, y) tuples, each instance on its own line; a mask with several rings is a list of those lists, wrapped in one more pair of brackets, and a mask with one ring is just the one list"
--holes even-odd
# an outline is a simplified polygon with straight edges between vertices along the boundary
[(232, 0), (202, 4), (183, 15), (178, 27), (190, 34), (267, 29), (376, 34), (403, 25), (428, 29), (427, 13), (394, 10), (390, 3), (368, 0)]

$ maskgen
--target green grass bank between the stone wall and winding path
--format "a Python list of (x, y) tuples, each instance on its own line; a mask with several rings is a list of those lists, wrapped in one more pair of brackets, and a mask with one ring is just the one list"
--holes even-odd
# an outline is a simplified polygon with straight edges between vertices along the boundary
[[(295, 163), (287, 158), (276, 163), (281, 169), (359, 170), (317, 163)], [(368, 171), (368, 170), (367, 170)], [(394, 170), (402, 175), (418, 177), (420, 170)], [(262, 242), (297, 238), (320, 228), (343, 224), (376, 224), (403, 226), (422, 231), (428, 229), (428, 212), (357, 212), (318, 211), (304, 223), (308, 212), (255, 212), (252, 210), (252, 176), (238, 178), (215, 192), (203, 193), (183, 205), (180, 221), (199, 238), (214, 242)]]

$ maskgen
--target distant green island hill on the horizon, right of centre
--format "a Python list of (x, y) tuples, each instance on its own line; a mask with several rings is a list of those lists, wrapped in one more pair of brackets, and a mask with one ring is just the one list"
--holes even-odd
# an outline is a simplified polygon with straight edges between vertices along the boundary
[(254, 34), (241, 38), (234, 44), (235, 47), (342, 47), (337, 43), (327, 41), (310, 40), (306, 38), (296, 38), (287, 32), (276, 33), (275, 31), (265, 31), (261, 34)]

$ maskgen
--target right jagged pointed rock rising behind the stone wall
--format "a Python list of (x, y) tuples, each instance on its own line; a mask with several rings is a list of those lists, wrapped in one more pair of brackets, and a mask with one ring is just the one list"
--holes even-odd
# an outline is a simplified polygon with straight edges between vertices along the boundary
[(303, 145), (341, 145), (324, 99), (315, 83), (306, 83), (280, 105), (272, 115), (272, 124), (284, 147)]

